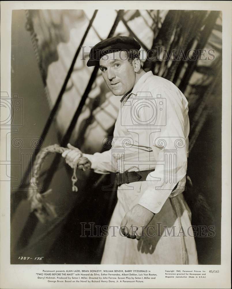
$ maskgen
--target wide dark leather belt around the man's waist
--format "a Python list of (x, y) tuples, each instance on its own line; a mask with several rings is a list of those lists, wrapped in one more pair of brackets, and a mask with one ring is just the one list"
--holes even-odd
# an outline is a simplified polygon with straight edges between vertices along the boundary
[[(129, 184), (135, 181), (146, 181), (147, 176), (151, 172), (154, 172), (154, 169), (147, 170), (147, 171), (138, 171), (138, 172), (124, 172), (124, 173), (117, 172), (117, 173), (114, 173), (115, 182), (117, 183), (118, 186), (121, 186), (122, 184)], [(176, 190), (178, 183), (176, 184), (172, 192)]]

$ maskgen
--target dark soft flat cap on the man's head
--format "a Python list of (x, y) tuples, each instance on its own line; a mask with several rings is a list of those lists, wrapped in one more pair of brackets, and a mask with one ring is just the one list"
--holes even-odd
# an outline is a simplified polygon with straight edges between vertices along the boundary
[(87, 66), (95, 66), (99, 64), (102, 56), (114, 51), (130, 51), (132, 49), (139, 50), (141, 45), (133, 37), (115, 36), (107, 38), (97, 43), (91, 48)]

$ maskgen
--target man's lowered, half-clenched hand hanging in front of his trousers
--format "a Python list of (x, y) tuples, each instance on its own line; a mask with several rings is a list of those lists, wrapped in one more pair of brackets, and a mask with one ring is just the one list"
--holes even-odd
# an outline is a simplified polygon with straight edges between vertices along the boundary
[(137, 204), (122, 219), (121, 232), (124, 236), (139, 240), (143, 234), (144, 228), (154, 217), (154, 213)]

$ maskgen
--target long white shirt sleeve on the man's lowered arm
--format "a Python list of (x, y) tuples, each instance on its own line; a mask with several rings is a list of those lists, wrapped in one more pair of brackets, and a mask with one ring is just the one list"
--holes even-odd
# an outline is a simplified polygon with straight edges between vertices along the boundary
[[(179, 181), (182, 185), (178, 184), (176, 190), (184, 191), (185, 183), (182, 180), (187, 170), (188, 102), (181, 92), (164, 87), (156, 88), (151, 93), (153, 97), (160, 97), (156, 99), (155, 126), (146, 130), (157, 160), (155, 170), (146, 178), (145, 191), (138, 203), (153, 213), (159, 213)], [(146, 108), (143, 117), (150, 117)]]

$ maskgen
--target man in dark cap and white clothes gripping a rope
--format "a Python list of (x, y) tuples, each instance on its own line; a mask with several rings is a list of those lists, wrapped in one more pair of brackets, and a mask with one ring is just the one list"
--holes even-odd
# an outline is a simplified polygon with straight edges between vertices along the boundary
[[(83, 154), (95, 172), (112, 172), (118, 184), (101, 263), (197, 264), (191, 213), (182, 195), (188, 102), (170, 81), (142, 69), (140, 48), (132, 37), (108, 38), (91, 49), (87, 62), (99, 65), (108, 88), (122, 97), (112, 148)], [(63, 157), (74, 167), (80, 153), (68, 148)]]

